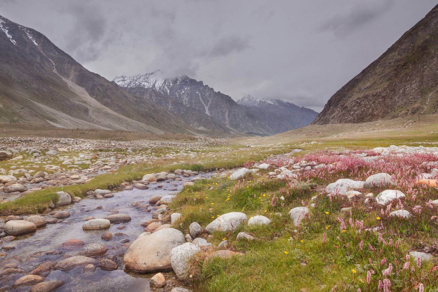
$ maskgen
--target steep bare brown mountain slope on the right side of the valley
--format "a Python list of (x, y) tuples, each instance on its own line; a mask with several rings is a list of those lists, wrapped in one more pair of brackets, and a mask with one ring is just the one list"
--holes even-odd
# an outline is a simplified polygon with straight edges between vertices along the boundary
[(438, 111), (438, 5), (327, 102), (314, 124)]

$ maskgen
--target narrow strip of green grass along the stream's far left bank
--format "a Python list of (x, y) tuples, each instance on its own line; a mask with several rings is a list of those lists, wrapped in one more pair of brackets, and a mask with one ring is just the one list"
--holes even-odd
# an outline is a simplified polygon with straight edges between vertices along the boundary
[[(220, 148), (224, 149), (224, 146)], [(242, 148), (239, 145), (232, 145), (231, 149)], [(22, 215), (39, 213), (46, 210), (50, 202), (57, 200), (58, 191), (65, 191), (72, 196), (83, 197), (89, 190), (113, 189), (126, 181), (141, 179), (146, 173), (171, 172), (175, 169), (191, 169), (194, 171), (208, 171), (216, 168), (235, 168), (239, 167), (248, 160), (260, 160), (271, 154), (280, 154), (290, 151), (288, 146), (261, 147), (245, 151), (224, 151), (219, 152), (214, 148), (212, 152), (200, 153), (196, 158), (185, 159), (186, 164), (176, 164), (175, 159), (162, 159), (154, 161), (152, 164), (141, 163), (136, 165), (126, 165), (120, 167), (116, 173), (106, 173), (96, 176), (85, 184), (49, 187), (44, 190), (35, 191), (25, 195), (15, 201), (8, 201), (0, 204), (0, 215)], [(229, 149), (227, 149), (229, 150)], [(215, 155), (210, 156), (210, 155)], [(180, 159), (180, 158), (179, 158)], [(80, 165), (81, 166), (81, 165)], [(85, 167), (85, 165), (84, 165)], [(86, 165), (88, 167), (88, 165)]]

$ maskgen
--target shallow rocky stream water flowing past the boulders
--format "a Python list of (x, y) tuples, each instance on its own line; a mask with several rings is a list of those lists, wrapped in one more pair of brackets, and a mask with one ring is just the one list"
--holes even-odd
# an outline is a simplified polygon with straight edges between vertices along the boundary
[[(201, 173), (199, 177), (208, 178), (211, 173)], [(143, 232), (144, 227), (141, 223), (152, 218), (152, 213), (131, 207), (133, 202), (144, 201), (148, 203), (150, 197), (155, 195), (166, 196), (182, 190), (183, 183), (190, 181), (192, 177), (182, 177), (181, 181), (166, 180), (157, 184), (150, 184), (148, 190), (122, 190), (114, 192), (114, 197), (106, 199), (85, 198), (79, 203), (72, 204), (63, 208), (71, 213), (71, 216), (63, 219), (62, 222), (47, 224), (39, 228), (36, 232), (19, 236), (11, 242), (4, 242), (2, 245), (15, 246), (14, 250), (7, 251), (7, 255), (0, 258), (0, 268), (5, 264), (16, 264), (18, 268), (30, 273), (35, 267), (45, 260), (63, 260), (64, 258), (78, 255), (81, 247), (77, 250), (66, 250), (61, 243), (67, 239), (80, 239), (88, 243), (101, 243), (108, 247), (108, 251), (97, 259), (115, 256), (118, 269), (115, 271), (103, 271), (96, 267), (94, 272), (83, 273), (83, 266), (76, 267), (71, 271), (52, 271), (45, 281), (62, 280), (63, 286), (56, 291), (130, 291), (144, 292), (151, 291), (149, 288), (149, 278), (152, 274), (139, 274), (131, 271), (124, 271), (123, 255), (127, 248), (121, 246), (122, 239), (129, 239), (133, 242), (138, 235)], [(161, 188), (159, 186), (162, 186)], [(96, 209), (102, 206), (102, 209)], [(57, 209), (58, 210), (58, 209)], [(85, 218), (93, 216), (95, 218), (104, 218), (111, 215), (109, 210), (117, 210), (121, 214), (131, 216), (130, 222), (123, 224), (111, 224), (108, 229), (100, 230), (82, 230)], [(51, 218), (45, 215), (45, 218)], [(125, 227), (123, 227), (125, 226)], [(106, 241), (101, 239), (101, 235), (110, 231), (113, 233), (113, 239)], [(123, 234), (115, 236), (115, 233)], [(49, 253), (49, 254), (46, 254)], [(0, 291), (29, 291), (31, 286), (20, 288), (11, 288), (14, 281), (24, 274), (13, 274), (0, 279)], [(165, 273), (166, 279), (171, 279), (172, 272)], [(175, 280), (176, 281), (176, 280)]]

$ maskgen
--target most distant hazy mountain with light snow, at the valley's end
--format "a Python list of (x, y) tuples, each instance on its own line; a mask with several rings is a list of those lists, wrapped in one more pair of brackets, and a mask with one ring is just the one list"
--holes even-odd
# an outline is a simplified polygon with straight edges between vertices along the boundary
[[(248, 110), (254, 112), (254, 114), (263, 115), (263, 112), (268, 113), (271, 116), (270, 122), (277, 125), (279, 133), (305, 127), (318, 115), (313, 109), (296, 106), (281, 99), (260, 99), (247, 95), (237, 100), (237, 103), (249, 107)], [(275, 120), (273, 117), (279, 117), (279, 119)], [(269, 119), (266, 118), (265, 121), (269, 121)], [(272, 124), (272, 127), (274, 127), (274, 124)]]

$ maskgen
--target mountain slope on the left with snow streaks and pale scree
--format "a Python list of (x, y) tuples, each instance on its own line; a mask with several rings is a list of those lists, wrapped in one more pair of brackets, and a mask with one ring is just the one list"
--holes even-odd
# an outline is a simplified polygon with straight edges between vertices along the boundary
[(2, 16), (0, 123), (155, 134), (196, 131), (162, 106), (88, 71), (45, 35)]

